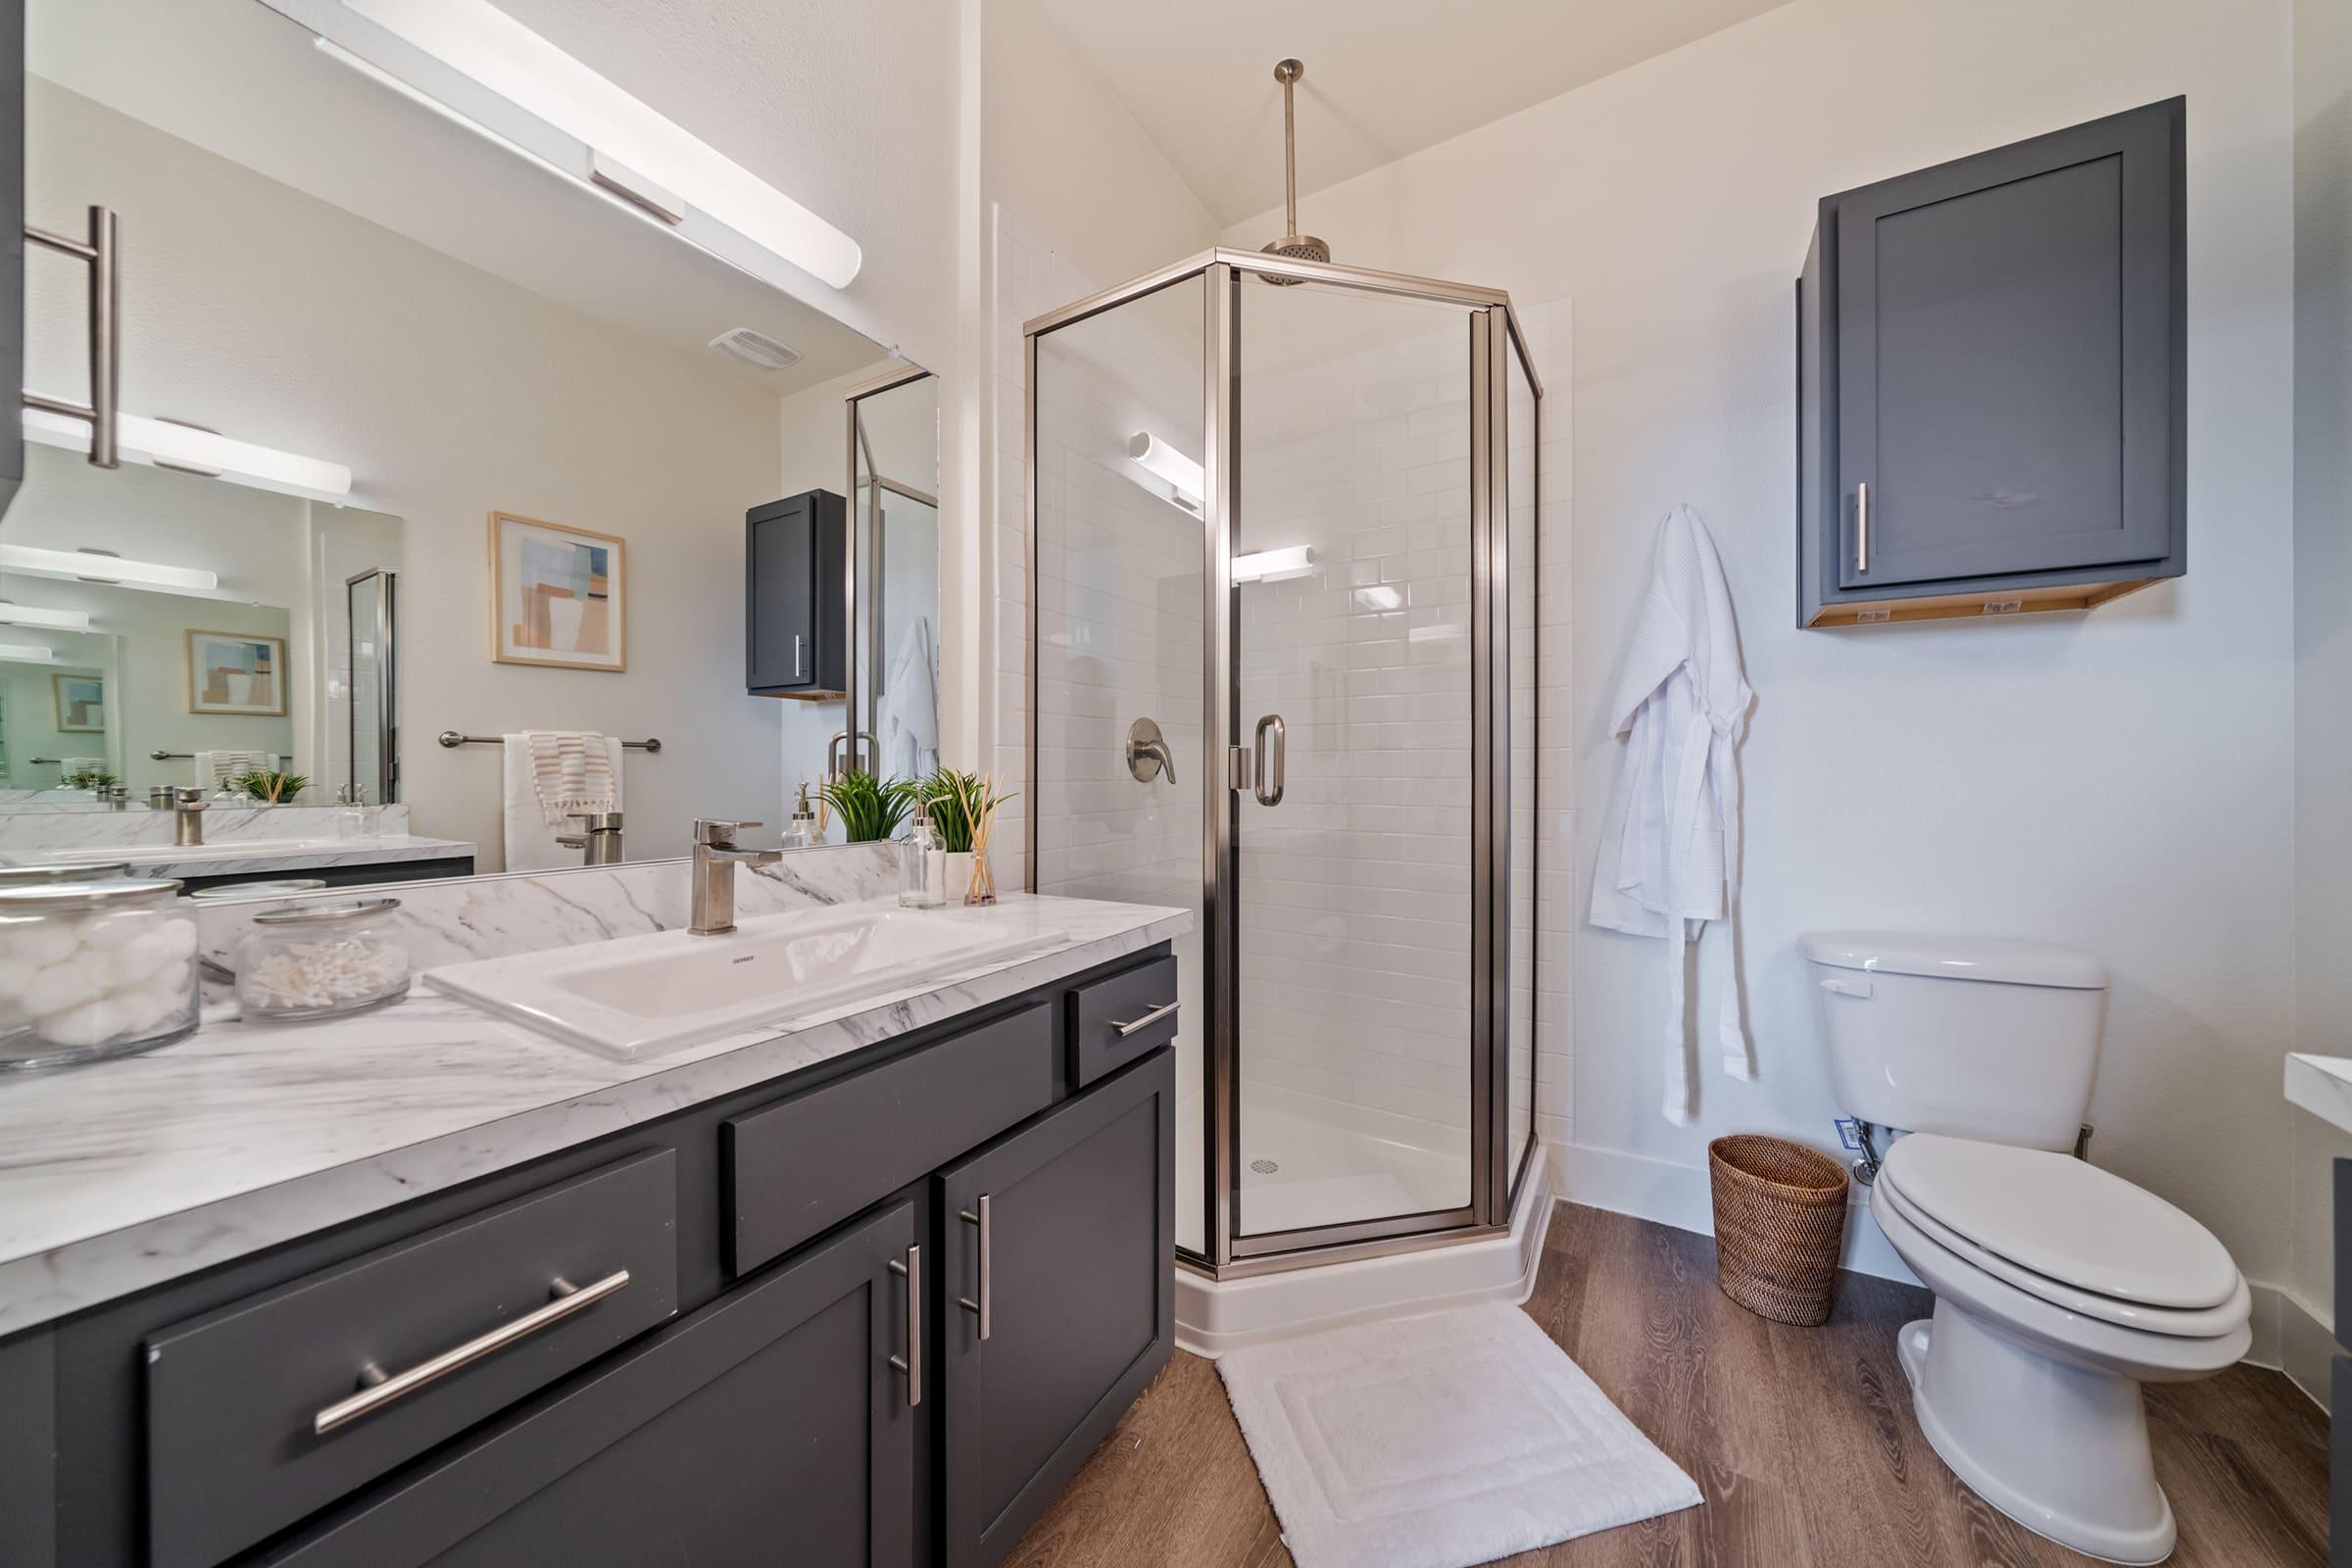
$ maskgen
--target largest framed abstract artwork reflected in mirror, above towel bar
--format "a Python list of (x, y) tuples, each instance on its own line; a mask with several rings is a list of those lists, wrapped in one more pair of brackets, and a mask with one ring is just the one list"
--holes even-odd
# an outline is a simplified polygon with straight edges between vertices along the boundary
[(616, 534), (489, 515), (489, 656), (628, 670), (628, 567)]

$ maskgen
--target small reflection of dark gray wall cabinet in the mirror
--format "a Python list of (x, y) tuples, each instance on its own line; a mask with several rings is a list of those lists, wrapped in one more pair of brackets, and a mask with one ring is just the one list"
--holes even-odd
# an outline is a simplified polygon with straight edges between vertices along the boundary
[(849, 691), (849, 508), (830, 489), (743, 515), (743, 689)]

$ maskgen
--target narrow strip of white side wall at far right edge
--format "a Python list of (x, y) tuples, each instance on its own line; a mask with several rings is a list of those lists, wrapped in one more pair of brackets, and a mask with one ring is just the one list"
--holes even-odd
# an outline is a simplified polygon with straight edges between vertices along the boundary
[[(2352, 1053), (2352, 9), (2296, 0), (2296, 1046)], [(2310, 1324), (2336, 1309), (2333, 1166), (2352, 1135), (2296, 1114), (2293, 1269)], [(2288, 1326), (2296, 1319), (2288, 1316)], [(2286, 1338), (2328, 1399), (2331, 1335)]]

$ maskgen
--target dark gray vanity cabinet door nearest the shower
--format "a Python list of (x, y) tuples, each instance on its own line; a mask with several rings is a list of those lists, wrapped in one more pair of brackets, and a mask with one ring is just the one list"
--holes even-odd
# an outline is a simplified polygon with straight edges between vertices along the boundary
[(946, 1566), (978, 1568), (1004, 1559), (1174, 1349), (1174, 1053), (938, 1185)]

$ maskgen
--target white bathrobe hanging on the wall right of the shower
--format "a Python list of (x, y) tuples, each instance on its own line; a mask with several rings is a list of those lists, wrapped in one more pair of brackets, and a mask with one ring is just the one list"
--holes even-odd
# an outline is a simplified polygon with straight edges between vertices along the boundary
[(1592, 924), (1663, 936), (1668, 945), (1665, 1119), (1675, 1124), (1693, 1112), (1682, 954), (1710, 919), (1724, 922), (1729, 945), (1715, 1027), (1724, 1072), (1755, 1077), (1733, 924), (1740, 877), (1733, 752), (1752, 698), (1724, 564), (1698, 512), (1677, 505), (1658, 527), (1649, 588), (1611, 703), (1611, 731), (1625, 738), (1625, 762), (1592, 863)]

